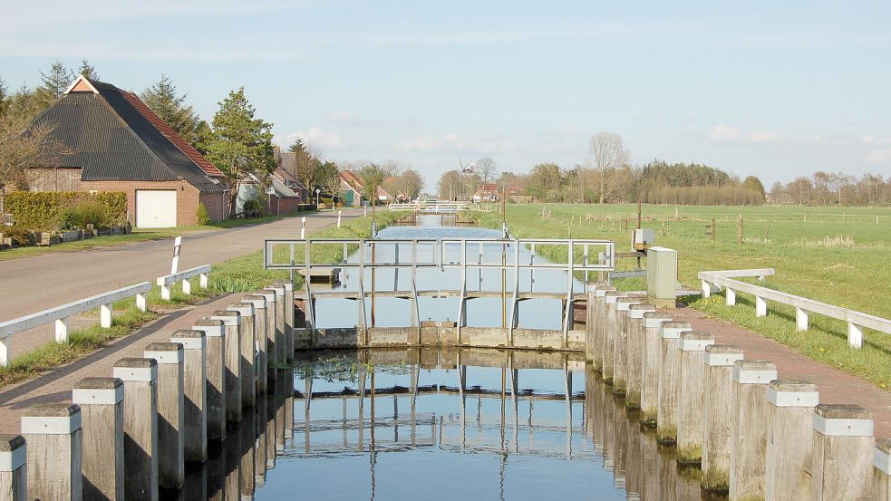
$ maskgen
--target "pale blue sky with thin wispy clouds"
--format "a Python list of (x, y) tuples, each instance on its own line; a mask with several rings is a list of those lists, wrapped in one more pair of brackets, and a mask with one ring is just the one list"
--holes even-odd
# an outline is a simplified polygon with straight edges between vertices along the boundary
[(86, 57), (140, 92), (166, 73), (210, 119), (245, 87), (276, 142), (393, 159), (427, 190), (490, 157), (700, 162), (765, 186), (891, 175), (891, 2), (41, 0), (2, 7), (0, 78)]

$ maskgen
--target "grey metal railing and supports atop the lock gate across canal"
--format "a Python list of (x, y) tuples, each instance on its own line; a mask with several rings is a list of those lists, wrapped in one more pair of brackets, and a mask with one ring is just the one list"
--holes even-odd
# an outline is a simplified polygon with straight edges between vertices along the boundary
[[(313, 246), (339, 246), (342, 247), (342, 255), (336, 262), (316, 263), (313, 260)], [(302, 253), (298, 252), (297, 247), (302, 246)], [(400, 246), (410, 246), (411, 257), (407, 260), (400, 258)], [(500, 246), (501, 253), (499, 260), (491, 261), (484, 258), (485, 246)], [(557, 246), (563, 247), (567, 260), (565, 263), (554, 263), (536, 259), (537, 246)], [(375, 250), (392, 247), (392, 252), (386, 253), (378, 257), (379, 254)], [(528, 262), (522, 261), (520, 258), (520, 249), (528, 248)], [(349, 255), (354, 251), (363, 249), (357, 253), (356, 261), (348, 262)], [(371, 249), (371, 260), (366, 257), (364, 249)], [(469, 251), (470, 250), (470, 255)], [(454, 254), (459, 252), (458, 257)], [(298, 255), (303, 258), (298, 260)], [(561, 253), (562, 254), (562, 253)], [(595, 257), (596, 256), (596, 257)], [(271, 239), (266, 240), (263, 247), (263, 261), (266, 269), (282, 269), (282, 270), (303, 270), (305, 277), (312, 276), (314, 269), (331, 270), (334, 268), (353, 268), (358, 269), (358, 293), (344, 294), (334, 293), (341, 298), (355, 299), (360, 302), (360, 315), (358, 327), (362, 329), (363, 336), (367, 336), (368, 321), (365, 318), (365, 297), (372, 298), (378, 292), (374, 283), (373, 272), (377, 269), (407, 269), (411, 270), (411, 290), (404, 291), (403, 294), (395, 294), (412, 301), (412, 327), (420, 329), (418, 318), (417, 298), (419, 296), (417, 288), (417, 269), (418, 268), (458, 268), (460, 269), (460, 290), (455, 291), (439, 291), (438, 296), (455, 295), (460, 297), (457, 336), (460, 342), (461, 327), (466, 325), (467, 319), (467, 301), (473, 297), (478, 297), (468, 290), (468, 270), (469, 269), (495, 269), (502, 271), (502, 288), (500, 294), (503, 300), (509, 301), (510, 309), (505, 319), (506, 328), (508, 329), (508, 341), (513, 341), (513, 330), (518, 327), (518, 304), (521, 301), (529, 299), (528, 293), (521, 294), (519, 292), (520, 270), (557, 270), (567, 273), (566, 294), (559, 294), (564, 299), (562, 313), (562, 330), (565, 341), (568, 342), (570, 325), (572, 324), (573, 303), (576, 300), (574, 290), (575, 274), (584, 272), (586, 275), (590, 272), (610, 272), (615, 269), (615, 243), (609, 240), (589, 240), (589, 239), (542, 239), (542, 238), (520, 238), (520, 239), (499, 239), (499, 238), (447, 238), (441, 240), (434, 239), (331, 239), (331, 238), (306, 238), (306, 239)], [(372, 271), (371, 284), (366, 284), (364, 280), (364, 270)], [(512, 271), (511, 283), (508, 284), (506, 272)], [(370, 285), (370, 291), (366, 293), (366, 285)], [(443, 294), (448, 293), (448, 294)], [(311, 286), (311, 280), (305, 280), (306, 308), (307, 320), (311, 323), (312, 329), (315, 330), (315, 306), (313, 298), (315, 296), (324, 297), (324, 293), (315, 294)], [(556, 294), (547, 294), (548, 297), (554, 297)], [(543, 295), (544, 297), (544, 295)], [(372, 322), (373, 324), (373, 322)], [(367, 337), (365, 338), (367, 339)]]

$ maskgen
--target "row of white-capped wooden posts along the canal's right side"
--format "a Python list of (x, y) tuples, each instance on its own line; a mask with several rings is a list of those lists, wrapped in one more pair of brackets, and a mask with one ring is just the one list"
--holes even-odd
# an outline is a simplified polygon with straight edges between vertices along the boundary
[(743, 499), (891, 500), (891, 439), (873, 438), (869, 410), (819, 404), (816, 385), (781, 380), (656, 311), (640, 294), (588, 291), (586, 360), (702, 489)]

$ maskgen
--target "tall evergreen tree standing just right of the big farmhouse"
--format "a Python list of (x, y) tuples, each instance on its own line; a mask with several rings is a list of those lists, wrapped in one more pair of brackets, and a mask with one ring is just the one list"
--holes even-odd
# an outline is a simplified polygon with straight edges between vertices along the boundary
[(266, 178), (276, 169), (272, 124), (255, 115), (244, 87), (229, 92), (228, 97), (219, 102), (207, 144), (208, 160), (226, 175), (232, 187), (229, 213), (233, 215), (241, 181), (248, 174)]

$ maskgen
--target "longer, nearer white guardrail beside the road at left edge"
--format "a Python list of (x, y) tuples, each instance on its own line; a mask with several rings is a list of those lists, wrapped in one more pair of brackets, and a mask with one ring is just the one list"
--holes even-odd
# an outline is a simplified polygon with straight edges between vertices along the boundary
[(151, 283), (142, 282), (107, 293), (85, 297), (72, 303), (24, 315), (6, 322), (0, 322), (0, 366), (5, 367), (9, 362), (9, 349), (13, 334), (55, 322), (55, 341), (68, 342), (72, 315), (87, 312), (98, 307), (100, 309), (100, 324), (102, 328), (108, 329), (111, 327), (112, 303), (136, 296), (136, 307), (140, 311), (145, 312), (148, 308), (146, 294), (150, 290)]

